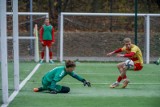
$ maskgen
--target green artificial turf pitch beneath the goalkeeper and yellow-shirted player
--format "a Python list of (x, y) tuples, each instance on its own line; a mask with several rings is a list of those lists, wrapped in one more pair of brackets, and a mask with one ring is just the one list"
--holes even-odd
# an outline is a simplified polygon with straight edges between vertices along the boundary
[[(63, 64), (42, 64), (22, 88), (9, 107), (160, 107), (160, 66), (144, 65), (142, 71), (127, 71), (130, 84), (122, 89), (109, 85), (117, 79), (117, 63), (77, 63), (76, 73), (92, 83), (92, 87), (66, 76), (59, 84), (69, 86), (69, 94), (35, 93), (41, 86), (41, 77), (49, 70)], [(32, 71), (36, 63), (21, 68), (21, 78)], [(29, 74), (29, 73), (28, 73)]]

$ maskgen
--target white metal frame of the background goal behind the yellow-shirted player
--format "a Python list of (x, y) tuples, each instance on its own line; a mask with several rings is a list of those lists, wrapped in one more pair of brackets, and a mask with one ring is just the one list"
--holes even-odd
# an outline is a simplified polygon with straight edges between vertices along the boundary
[[(60, 61), (63, 61), (63, 37), (64, 37), (64, 16), (135, 16), (134, 13), (69, 13), (62, 12), (60, 15)], [(145, 17), (145, 37), (146, 37), (146, 63), (150, 63), (150, 17), (159, 17), (160, 14), (137, 14)]]

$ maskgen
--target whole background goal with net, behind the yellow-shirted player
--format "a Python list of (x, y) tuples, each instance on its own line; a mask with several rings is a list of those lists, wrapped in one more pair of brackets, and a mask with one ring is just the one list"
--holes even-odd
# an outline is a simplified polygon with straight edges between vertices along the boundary
[[(123, 45), (130, 37), (134, 43), (134, 13), (61, 13), (60, 61), (122, 61), (106, 53)], [(138, 46), (146, 63), (160, 54), (160, 14), (138, 14)]]

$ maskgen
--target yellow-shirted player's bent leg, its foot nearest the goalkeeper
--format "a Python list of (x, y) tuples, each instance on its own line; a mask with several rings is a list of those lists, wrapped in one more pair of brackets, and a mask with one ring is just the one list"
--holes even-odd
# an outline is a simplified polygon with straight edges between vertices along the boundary
[(126, 79), (127, 76), (126, 76), (126, 67), (125, 67), (125, 62), (121, 62), (117, 65), (117, 68), (120, 72), (120, 75), (118, 76), (117, 78), (117, 81), (114, 82), (113, 84), (110, 85), (111, 88), (115, 88), (115, 87), (118, 87), (119, 86), (119, 83), (123, 80), (123, 79)]

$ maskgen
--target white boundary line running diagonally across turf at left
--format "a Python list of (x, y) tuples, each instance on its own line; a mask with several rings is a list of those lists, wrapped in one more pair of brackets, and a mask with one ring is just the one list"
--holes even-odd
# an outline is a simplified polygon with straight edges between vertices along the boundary
[(8, 103), (7, 104), (2, 104), (1, 107), (7, 107), (11, 101), (13, 101), (13, 99), (17, 96), (17, 94), (19, 93), (19, 91), (23, 88), (23, 86), (27, 83), (27, 81), (33, 76), (33, 74), (38, 70), (38, 68), (40, 67), (41, 64), (37, 64), (34, 69), (32, 70), (32, 72), (20, 83), (19, 85), (19, 90), (18, 91), (14, 91), (10, 97), (8, 98)]

